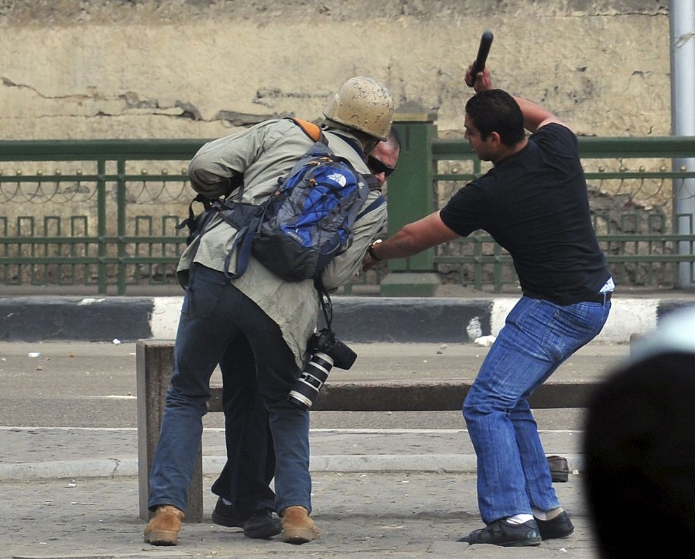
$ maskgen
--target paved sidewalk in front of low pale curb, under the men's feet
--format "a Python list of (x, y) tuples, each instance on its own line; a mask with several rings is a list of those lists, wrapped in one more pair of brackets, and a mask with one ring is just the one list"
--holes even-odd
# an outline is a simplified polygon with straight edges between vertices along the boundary
[[(205, 507), (214, 505), (207, 491)], [(322, 532), (303, 546), (251, 540), (212, 523), (185, 524), (179, 545), (142, 542), (133, 477), (0, 485), (0, 558), (564, 558), (596, 559), (580, 480), (557, 484), (575, 533), (539, 547), (467, 546), (456, 539), (481, 528), (471, 474), (354, 472), (314, 474), (314, 519)]]

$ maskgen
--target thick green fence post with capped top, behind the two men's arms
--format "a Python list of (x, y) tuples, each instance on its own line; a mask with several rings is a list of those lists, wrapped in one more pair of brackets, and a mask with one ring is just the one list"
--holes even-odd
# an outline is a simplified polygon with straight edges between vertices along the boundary
[[(437, 138), (437, 113), (417, 103), (406, 103), (393, 116), (401, 138), (398, 170), (388, 179), (388, 235), (434, 211), (432, 139)], [(427, 297), (434, 295), (439, 277), (434, 273), (434, 249), (408, 259), (388, 261), (381, 280), (381, 295)]]

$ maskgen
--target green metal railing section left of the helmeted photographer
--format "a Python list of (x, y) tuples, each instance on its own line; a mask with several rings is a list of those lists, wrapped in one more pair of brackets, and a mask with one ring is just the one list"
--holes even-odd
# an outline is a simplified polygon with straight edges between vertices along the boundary
[[(98, 293), (116, 286), (117, 293), (124, 294), (126, 286), (140, 282), (134, 271), (140, 266), (147, 268), (140, 275), (149, 276), (149, 284), (172, 282), (185, 239), (175, 225), (192, 196), (184, 167), (203, 142), (0, 142), (0, 161), (12, 164), (4, 166), (0, 175), (0, 203), (5, 210), (0, 215), (1, 283), (94, 284)], [(29, 161), (68, 166), (72, 172), (27, 172)], [(166, 161), (178, 169), (173, 173), (166, 168), (159, 173), (129, 170), (145, 161), (149, 166)], [(152, 215), (129, 215), (133, 189), (159, 183), (177, 185), (177, 195), (166, 201), (150, 196)], [(12, 212), (13, 205), (21, 207)], [(71, 215), (70, 206), (78, 206), (73, 211), (80, 214)], [(162, 212), (162, 208), (173, 211)], [(161, 220), (160, 227), (154, 226), (155, 219)]]

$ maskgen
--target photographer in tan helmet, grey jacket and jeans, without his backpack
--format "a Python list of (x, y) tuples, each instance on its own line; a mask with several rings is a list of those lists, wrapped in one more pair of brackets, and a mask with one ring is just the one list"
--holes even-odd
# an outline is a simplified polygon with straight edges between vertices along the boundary
[[(358, 173), (369, 173), (366, 154), (386, 140), (391, 126), (393, 100), (386, 87), (372, 78), (351, 78), (328, 100), (323, 114), (329, 147)], [(205, 196), (217, 198), (228, 194), (233, 179), (243, 175), (242, 201), (258, 205), (312, 144), (291, 119), (268, 120), (204, 145), (189, 165), (191, 184)], [(358, 270), (367, 246), (386, 220), (386, 205), (372, 207), (378, 197), (379, 191), (370, 191), (363, 203), (367, 211), (353, 225), (351, 247), (323, 271), (325, 289), (335, 289)], [(309, 411), (288, 400), (316, 326), (318, 293), (312, 279), (286, 282), (254, 257), (244, 275), (228, 279), (227, 273), (236, 272), (235, 258), (228, 258), (236, 235), (237, 229), (230, 224), (214, 223), (200, 237), (197, 249), (189, 247), (180, 260), (179, 270), (190, 270), (190, 279), (150, 475), (148, 505), (154, 517), (145, 528), (145, 541), (153, 545), (177, 544), (200, 448), (202, 416), (210, 398), (210, 376), (223, 358), (237, 354), (245, 366), (226, 370), (224, 382), (237, 384), (239, 398), (249, 405), (260, 405), (260, 399), (268, 412), (267, 417), (261, 410), (247, 417), (238, 426), (237, 442), (240, 447), (260, 442), (257, 451), (265, 456), (270, 440), (253, 433), (267, 431), (270, 423), (275, 447), (275, 502), (266, 492), (249, 502), (248, 510), (278, 511), (284, 542), (302, 544), (319, 535), (309, 517)], [(249, 375), (249, 370), (255, 375)], [(265, 537), (279, 532), (271, 514), (263, 512), (259, 519), (268, 529)]]

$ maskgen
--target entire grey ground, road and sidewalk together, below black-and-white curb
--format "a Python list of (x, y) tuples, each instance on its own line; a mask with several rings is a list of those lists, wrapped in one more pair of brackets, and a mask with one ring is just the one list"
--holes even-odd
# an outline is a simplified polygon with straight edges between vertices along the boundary
[[(330, 378), (472, 379), (487, 351), (474, 344), (351, 345), (360, 356), (355, 367)], [(600, 382), (628, 352), (625, 344), (590, 344), (553, 378)], [(460, 412), (312, 412), (320, 539), (294, 547), (200, 523), (185, 525), (175, 548), (143, 544), (134, 354), (134, 344), (0, 344), (0, 558), (596, 557), (583, 498), (583, 411), (563, 409), (539, 410), (537, 419), (546, 452), (569, 458), (573, 471), (556, 484), (576, 525), (568, 539), (525, 549), (455, 542), (481, 527), (474, 453)], [(214, 498), (207, 490), (224, 461), (221, 414), (209, 414), (205, 427), (209, 514)]]

